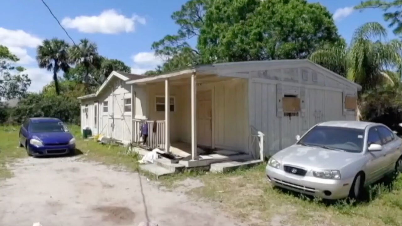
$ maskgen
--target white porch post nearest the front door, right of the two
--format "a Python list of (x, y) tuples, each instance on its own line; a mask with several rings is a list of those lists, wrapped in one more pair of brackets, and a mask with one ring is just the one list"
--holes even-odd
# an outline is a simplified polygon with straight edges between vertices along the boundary
[(197, 80), (191, 75), (191, 159), (197, 159)]

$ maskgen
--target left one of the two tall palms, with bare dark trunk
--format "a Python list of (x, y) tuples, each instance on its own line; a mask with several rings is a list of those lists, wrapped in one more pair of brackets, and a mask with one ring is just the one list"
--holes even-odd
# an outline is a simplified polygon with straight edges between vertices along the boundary
[(70, 68), (68, 65), (68, 48), (68, 43), (57, 38), (51, 40), (45, 39), (42, 45), (39, 45), (37, 48), (36, 60), (39, 68), (53, 71), (53, 80), (57, 94), (60, 93), (57, 72), (60, 70), (67, 72)]

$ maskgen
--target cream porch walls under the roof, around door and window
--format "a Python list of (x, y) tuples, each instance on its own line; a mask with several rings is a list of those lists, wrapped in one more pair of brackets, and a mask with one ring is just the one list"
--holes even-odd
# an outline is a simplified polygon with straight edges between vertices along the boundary
[[(247, 152), (247, 84), (246, 79), (197, 84), (197, 91), (211, 90), (212, 93), (213, 147)], [(164, 112), (156, 111), (155, 102), (156, 97), (164, 97), (164, 83), (148, 85), (146, 90), (148, 93), (148, 120), (164, 120)], [(170, 96), (175, 100), (175, 111), (170, 112), (170, 142), (191, 143), (189, 81), (170, 86)]]

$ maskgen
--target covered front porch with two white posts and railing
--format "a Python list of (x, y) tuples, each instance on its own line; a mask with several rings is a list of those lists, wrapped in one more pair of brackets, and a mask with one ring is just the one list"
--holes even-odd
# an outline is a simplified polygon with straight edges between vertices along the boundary
[(144, 142), (146, 123), (144, 145), (176, 156), (171, 163), (195, 167), (262, 156), (263, 136), (248, 126), (247, 79), (182, 72), (128, 83), (135, 100), (133, 142)]

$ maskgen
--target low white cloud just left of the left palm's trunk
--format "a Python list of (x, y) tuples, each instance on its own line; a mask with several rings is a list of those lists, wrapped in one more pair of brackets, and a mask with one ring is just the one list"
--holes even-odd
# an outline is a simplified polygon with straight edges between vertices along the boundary
[(26, 68), (22, 73), (28, 74), (31, 79), (31, 86), (28, 88), (30, 92), (42, 91), (43, 86), (53, 80), (53, 73), (42, 68)]

